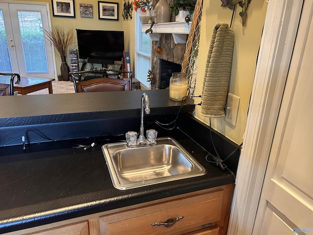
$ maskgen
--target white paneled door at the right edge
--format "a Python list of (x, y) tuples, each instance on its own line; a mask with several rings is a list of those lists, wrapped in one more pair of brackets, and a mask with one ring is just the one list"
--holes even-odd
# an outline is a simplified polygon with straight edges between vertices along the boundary
[(304, 1), (253, 235), (313, 235), (313, 0)]

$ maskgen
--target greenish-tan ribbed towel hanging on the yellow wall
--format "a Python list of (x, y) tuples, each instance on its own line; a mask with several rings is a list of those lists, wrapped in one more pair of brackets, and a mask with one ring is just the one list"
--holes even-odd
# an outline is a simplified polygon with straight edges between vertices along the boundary
[(201, 115), (223, 118), (227, 97), (234, 32), (226, 23), (216, 24), (207, 55), (202, 87)]

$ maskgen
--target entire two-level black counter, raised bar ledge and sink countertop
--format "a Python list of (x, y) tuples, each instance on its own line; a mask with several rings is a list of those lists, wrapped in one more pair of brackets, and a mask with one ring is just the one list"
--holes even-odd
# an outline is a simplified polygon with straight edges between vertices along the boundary
[[(151, 109), (146, 126), (177, 120), (171, 131), (157, 126), (158, 136), (178, 141), (207, 169), (205, 175), (127, 190), (113, 187), (101, 146), (139, 128), (144, 92)], [(208, 127), (186, 114), (193, 110), (193, 100), (170, 100), (168, 90), (2, 96), (0, 234), (234, 183), (230, 171), (206, 162), (204, 149), (214, 149)], [(212, 132), (223, 158), (238, 147)], [(100, 141), (87, 150), (68, 141), (88, 137)], [(234, 155), (227, 161), (233, 172), (239, 151)]]

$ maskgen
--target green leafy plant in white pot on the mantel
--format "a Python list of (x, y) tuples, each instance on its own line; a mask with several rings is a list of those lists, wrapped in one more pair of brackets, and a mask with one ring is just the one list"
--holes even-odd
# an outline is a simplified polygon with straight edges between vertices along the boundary
[(186, 15), (194, 13), (196, 3), (197, 0), (173, 0), (173, 5), (170, 6), (169, 11), (176, 16), (175, 21), (184, 21)]

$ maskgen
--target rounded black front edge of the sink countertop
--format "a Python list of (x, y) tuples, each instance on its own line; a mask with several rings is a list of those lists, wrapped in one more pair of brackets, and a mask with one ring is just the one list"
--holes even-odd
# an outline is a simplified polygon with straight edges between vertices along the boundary
[[(59, 210), (45, 211), (44, 215), (30, 214), (27, 216), (17, 217), (14, 219), (8, 219), (7, 221), (0, 221), (0, 234), (18, 231), (26, 228), (41, 226), (49, 223), (59, 222), (67, 219), (77, 218), (93, 213), (99, 213), (103, 211), (110, 211), (127, 206), (133, 206), (140, 203), (163, 199), (167, 197), (177, 196), (189, 192), (199, 191), (207, 188), (214, 188), (223, 186), (226, 184), (233, 184), (234, 179), (231, 174), (212, 179), (210, 182), (205, 180), (189, 183), (183, 183), (180, 187), (173, 187), (164, 189), (159, 187), (158, 190), (146, 191), (140, 196), (140, 198), (133, 198), (132, 195), (128, 195), (125, 198), (114, 198), (112, 200), (98, 200), (88, 202), (86, 204), (80, 204), (73, 207), (60, 208)], [(138, 195), (136, 195), (138, 197)], [(144, 199), (149, 198), (148, 200)]]

